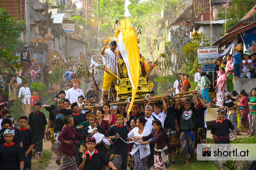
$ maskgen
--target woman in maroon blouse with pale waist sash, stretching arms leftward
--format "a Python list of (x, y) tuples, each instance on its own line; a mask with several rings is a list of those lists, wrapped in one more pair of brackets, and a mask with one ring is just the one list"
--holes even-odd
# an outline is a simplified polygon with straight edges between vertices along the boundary
[(153, 137), (153, 140), (148, 142), (142, 142), (141, 144), (156, 144), (154, 150), (154, 170), (167, 170), (169, 164), (168, 148), (166, 143), (170, 143), (168, 135), (164, 132), (162, 123), (159, 120), (152, 122), (153, 131), (144, 137), (136, 137), (136, 139), (142, 139), (143, 141), (149, 140)]

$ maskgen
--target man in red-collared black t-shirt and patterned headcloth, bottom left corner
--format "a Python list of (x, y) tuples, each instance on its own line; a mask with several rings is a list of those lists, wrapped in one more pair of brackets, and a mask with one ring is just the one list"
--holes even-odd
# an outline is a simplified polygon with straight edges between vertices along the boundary
[(23, 149), (12, 142), (14, 130), (8, 128), (4, 131), (5, 143), (0, 145), (0, 169), (24, 169), (26, 155)]

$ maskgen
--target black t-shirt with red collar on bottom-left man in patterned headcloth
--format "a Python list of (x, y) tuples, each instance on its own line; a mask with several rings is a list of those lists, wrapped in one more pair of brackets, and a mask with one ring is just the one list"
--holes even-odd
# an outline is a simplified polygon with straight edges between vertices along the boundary
[(26, 155), (18, 144), (0, 145), (0, 169), (20, 169), (20, 162), (25, 160)]

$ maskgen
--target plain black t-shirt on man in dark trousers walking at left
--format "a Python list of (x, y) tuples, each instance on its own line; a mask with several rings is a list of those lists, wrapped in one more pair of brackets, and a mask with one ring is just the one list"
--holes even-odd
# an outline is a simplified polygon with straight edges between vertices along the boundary
[(39, 112), (38, 114), (34, 111), (28, 115), (28, 125), (31, 126), (31, 130), (34, 132), (36, 139), (43, 139), (47, 121), (44, 113)]

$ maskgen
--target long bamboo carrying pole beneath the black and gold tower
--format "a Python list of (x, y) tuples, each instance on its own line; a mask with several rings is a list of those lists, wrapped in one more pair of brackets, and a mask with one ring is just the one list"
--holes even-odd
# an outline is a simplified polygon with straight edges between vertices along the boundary
[[(193, 91), (191, 91), (191, 92), (193, 92)], [(185, 93), (185, 92), (184, 92)], [(177, 94), (179, 94), (179, 93), (177, 93)], [(182, 94), (182, 93), (181, 93)], [(188, 94), (188, 92), (187, 92), (187, 94)], [(188, 94), (188, 95), (184, 95), (184, 96), (182, 96), (181, 98), (187, 98), (187, 97), (193, 97), (192, 96), (193, 94)], [(167, 102), (170, 102), (170, 101), (172, 101), (172, 99), (178, 99), (179, 98), (179, 96), (173, 96), (173, 97), (170, 97), (170, 95), (167, 95), (167, 96), (169, 96), (169, 97), (166, 97), (164, 100), (167, 100)], [(157, 98), (158, 97), (158, 98)], [(155, 99), (153, 99), (153, 98), (150, 98), (150, 99), (152, 99), (152, 103), (153, 102), (156, 102), (156, 101), (162, 101), (162, 96), (157, 96), (157, 97), (155, 97)], [(161, 97), (161, 98), (159, 98), (159, 97)], [(150, 100), (149, 99), (149, 100)], [(137, 104), (137, 105), (140, 105), (140, 104), (144, 104), (144, 102), (143, 101), (147, 101), (147, 100), (145, 100), (145, 99), (140, 99), (140, 100), (137, 100), (137, 101), (135, 101), (134, 100), (134, 103), (133, 104)], [(151, 103), (150, 102), (150, 103)], [(123, 102), (118, 102), (118, 103), (110, 103), (109, 105), (120, 105), (120, 106), (125, 106), (125, 105), (127, 105), (129, 102), (128, 101), (123, 101)], [(87, 110), (88, 108), (90, 108), (90, 109), (93, 109), (94, 107), (93, 106), (89, 106), (89, 107), (84, 107), (83, 105), (81, 105), (81, 107), (82, 107), (82, 110)], [(95, 108), (102, 108), (102, 105), (98, 105), (98, 106), (95, 106)]]

